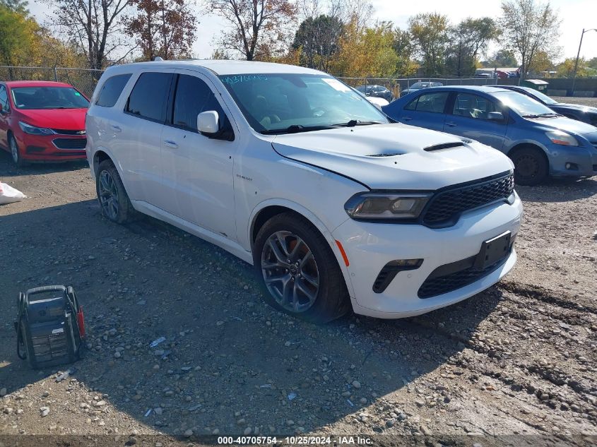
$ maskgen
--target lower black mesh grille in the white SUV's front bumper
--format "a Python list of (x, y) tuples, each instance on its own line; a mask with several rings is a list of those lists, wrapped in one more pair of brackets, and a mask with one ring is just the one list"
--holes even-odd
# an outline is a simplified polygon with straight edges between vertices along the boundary
[[(437, 295), (452, 292), (454, 290), (460, 289), (461, 287), (472, 284), (473, 282), (478, 281), (497, 270), (497, 268), (502, 266), (507, 259), (506, 256), (492, 266), (479, 269), (473, 266), (476, 257), (477, 256), (475, 255), (471, 258), (466, 258), (462, 261), (446, 264), (445, 266), (441, 266), (433, 270), (419, 288), (419, 298), (436, 297)], [(459, 270), (454, 271), (454, 268), (459, 268)], [(450, 270), (451, 273), (442, 275), (442, 272), (449, 272)]]

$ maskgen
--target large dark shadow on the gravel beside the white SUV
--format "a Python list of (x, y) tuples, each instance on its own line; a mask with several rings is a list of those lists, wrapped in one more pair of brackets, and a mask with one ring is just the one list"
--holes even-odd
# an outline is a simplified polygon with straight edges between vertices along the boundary
[[(462, 350), (501, 298), (492, 289), (417, 320), (350, 315), (313, 326), (263, 304), (252, 268), (225, 251), (150, 218), (114, 225), (96, 201), (4, 216), (0, 234), (10, 260), (0, 271), (8, 393), (58, 370), (30, 371), (17, 359), (18, 292), (73, 285), (93, 348), (76, 364), (76, 379), (93, 393), (76, 388), (73, 405), (105, 394), (117, 410), (170, 434), (242, 433), (235, 412), (265, 434), (358, 414)], [(442, 321), (454, 336), (437, 330)], [(160, 336), (167, 341), (151, 349)], [(146, 417), (158, 406), (162, 415)]]

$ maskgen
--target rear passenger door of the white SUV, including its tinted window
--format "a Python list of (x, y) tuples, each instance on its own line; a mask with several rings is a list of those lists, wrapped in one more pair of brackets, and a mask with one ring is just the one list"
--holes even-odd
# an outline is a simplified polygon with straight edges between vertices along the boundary
[(124, 104), (109, 120), (110, 147), (125, 177), (131, 200), (165, 210), (170, 197), (162, 189), (161, 138), (174, 70), (143, 71)]

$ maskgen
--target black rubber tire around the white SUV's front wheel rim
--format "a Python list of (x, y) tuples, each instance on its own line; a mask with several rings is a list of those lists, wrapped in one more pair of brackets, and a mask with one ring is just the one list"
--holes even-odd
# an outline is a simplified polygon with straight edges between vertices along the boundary
[[(304, 290), (305, 285), (310, 286), (309, 282), (307, 282), (307, 278), (310, 277), (311, 279), (309, 279), (309, 281), (311, 281), (314, 271), (317, 272), (318, 286), (316, 292), (314, 292), (314, 300), (310, 302), (305, 309), (297, 311), (288, 309), (288, 306), (280, 304), (280, 299), (281, 301), (284, 301), (282, 297), (274, 297), (273, 292), (271, 292), (268, 285), (266, 285), (266, 276), (268, 276), (268, 272), (271, 272), (272, 270), (268, 270), (268, 272), (264, 270), (264, 266), (269, 265), (267, 259), (262, 263), (262, 260), (266, 258), (268, 254), (274, 255), (273, 250), (271, 249), (271, 244), (268, 242), (270, 238), (275, 237), (276, 234), (284, 234), (286, 232), (290, 233), (285, 238), (285, 241), (289, 244), (290, 248), (292, 248), (292, 240), (295, 238), (294, 247), (298, 249), (298, 246), (302, 244), (301, 248), (305, 252), (312, 254), (312, 256), (307, 254), (307, 257), (309, 258), (308, 263), (305, 263), (305, 266), (303, 266), (301, 262), (301, 266), (297, 266), (298, 273), (297, 270), (292, 272), (285, 267), (268, 268), (279, 269), (278, 271), (280, 275), (292, 275), (292, 282), (289, 284), (292, 284), (291, 287), (294, 287), (293, 290), (295, 294), (293, 297), (301, 294), (300, 291)], [(268, 244), (267, 247), (266, 244)], [(295, 250), (292, 249), (292, 251)], [(296, 258), (299, 259), (300, 256), (302, 255), (297, 254)], [(255, 239), (253, 261), (256, 273), (259, 277), (259, 282), (264, 289), (264, 301), (280, 311), (311, 323), (323, 324), (343, 316), (350, 309), (348, 290), (346, 289), (346, 283), (340, 270), (340, 266), (338, 266), (338, 262), (336, 261), (336, 256), (334, 256), (328, 242), (317, 228), (300, 215), (295, 213), (281, 213), (268, 220), (264, 226), (261, 227)], [(294, 264), (295, 259), (291, 259), (291, 261), (292, 264)], [(294, 266), (289, 263), (289, 267)], [(311, 268), (312, 270), (307, 274), (308, 268)], [(284, 273), (284, 271), (286, 273)], [(275, 277), (273, 275), (268, 276), (270, 281), (271, 278)], [(298, 287), (295, 285), (295, 280), (296, 284), (300, 283), (302, 286)], [(273, 281), (275, 282), (276, 280)], [(299, 293), (297, 293), (297, 289), (299, 290)], [(285, 286), (283, 287), (283, 290), (285, 291)], [(309, 292), (313, 293), (312, 290)], [(306, 294), (297, 300), (300, 302), (297, 306), (307, 306), (307, 304), (304, 304), (305, 299), (308, 300)]]

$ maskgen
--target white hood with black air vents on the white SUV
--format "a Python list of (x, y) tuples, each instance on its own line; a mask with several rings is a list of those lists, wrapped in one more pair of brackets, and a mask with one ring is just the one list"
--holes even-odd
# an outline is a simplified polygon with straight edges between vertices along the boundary
[[(454, 147), (433, 148), (450, 143)], [(272, 146), (283, 157), (336, 172), (370, 189), (434, 190), (513, 168), (508, 157), (486, 145), (404, 124), (283, 134)]]

